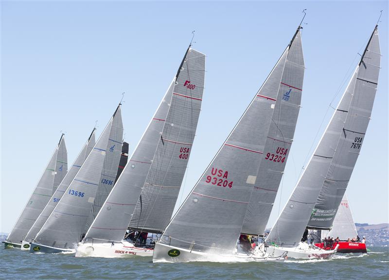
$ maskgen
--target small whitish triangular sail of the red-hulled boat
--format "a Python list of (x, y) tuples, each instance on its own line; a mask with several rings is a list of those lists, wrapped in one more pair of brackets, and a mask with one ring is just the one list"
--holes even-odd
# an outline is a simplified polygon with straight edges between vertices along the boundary
[(356, 237), (357, 232), (354, 224), (353, 214), (351, 213), (350, 203), (345, 193), (340, 202), (339, 209), (336, 212), (331, 231), (321, 231), (324, 237), (339, 237), (340, 240), (347, 240)]

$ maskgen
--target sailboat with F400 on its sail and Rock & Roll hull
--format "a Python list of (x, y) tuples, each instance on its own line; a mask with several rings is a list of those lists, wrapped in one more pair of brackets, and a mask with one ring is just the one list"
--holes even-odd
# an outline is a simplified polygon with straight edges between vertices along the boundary
[[(153, 246), (139, 244), (137, 236), (160, 233), (172, 216), (195, 138), (204, 75), (205, 55), (190, 45), (76, 257), (153, 255)], [(124, 240), (131, 236), (128, 228), (132, 240)]]

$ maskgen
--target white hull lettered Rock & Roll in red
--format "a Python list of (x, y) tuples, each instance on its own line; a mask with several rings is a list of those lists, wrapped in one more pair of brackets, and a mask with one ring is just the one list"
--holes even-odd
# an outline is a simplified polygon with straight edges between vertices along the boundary
[(135, 247), (133, 243), (79, 243), (76, 257), (128, 258), (131, 256), (152, 257), (154, 249)]

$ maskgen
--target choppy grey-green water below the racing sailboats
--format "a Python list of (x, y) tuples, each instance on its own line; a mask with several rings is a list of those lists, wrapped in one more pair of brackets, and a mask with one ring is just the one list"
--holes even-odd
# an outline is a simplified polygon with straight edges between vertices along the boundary
[(337, 254), (327, 260), (262, 263), (153, 264), (151, 258), (75, 258), (64, 254), (30, 254), (3, 247), (0, 258), (0, 279), (4, 280), (389, 279), (388, 248), (372, 248), (367, 254)]

